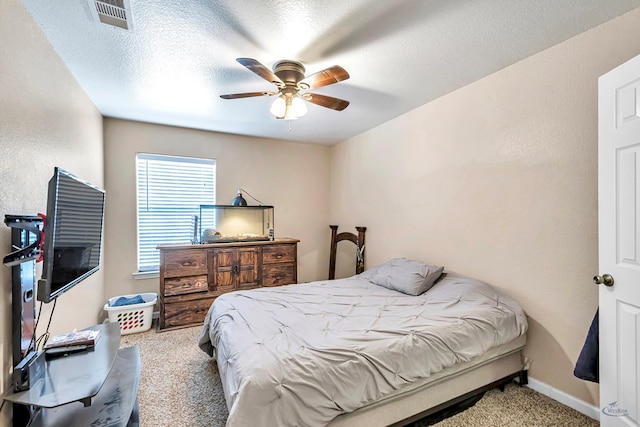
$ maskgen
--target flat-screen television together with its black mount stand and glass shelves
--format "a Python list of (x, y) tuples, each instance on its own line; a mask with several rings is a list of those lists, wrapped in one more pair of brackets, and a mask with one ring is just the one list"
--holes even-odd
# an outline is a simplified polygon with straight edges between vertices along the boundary
[(104, 190), (55, 168), (46, 217), (5, 215), (11, 228), (12, 251), (3, 263), (12, 269), (14, 367), (2, 399), (12, 403), (14, 427), (139, 425), (140, 354), (136, 346), (120, 349), (118, 322), (86, 328), (101, 337), (90, 350), (45, 357), (38, 348), (49, 326), (36, 338), (42, 304), (53, 303), (50, 323), (57, 298), (100, 268), (104, 202)]

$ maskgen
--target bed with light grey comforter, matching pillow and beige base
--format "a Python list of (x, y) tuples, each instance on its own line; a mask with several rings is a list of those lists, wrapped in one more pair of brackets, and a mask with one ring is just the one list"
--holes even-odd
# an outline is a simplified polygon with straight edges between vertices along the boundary
[(216, 359), (228, 427), (386, 426), (526, 379), (526, 330), (520, 306), (487, 283), (398, 258), (224, 294), (199, 346)]

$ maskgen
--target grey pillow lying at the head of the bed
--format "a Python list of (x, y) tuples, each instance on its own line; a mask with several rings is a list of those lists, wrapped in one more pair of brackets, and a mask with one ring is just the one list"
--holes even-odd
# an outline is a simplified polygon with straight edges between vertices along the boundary
[(442, 274), (444, 267), (407, 258), (394, 258), (360, 274), (363, 279), (407, 295), (428, 291)]

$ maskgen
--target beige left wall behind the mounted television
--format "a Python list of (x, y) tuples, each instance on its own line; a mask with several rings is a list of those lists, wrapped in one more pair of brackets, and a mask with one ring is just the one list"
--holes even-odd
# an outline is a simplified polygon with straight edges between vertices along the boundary
[[(102, 116), (80, 89), (19, 0), (0, 2), (0, 215), (45, 212), (47, 181), (60, 166), (103, 185)], [(9, 252), (11, 230), (0, 225), (0, 255)], [(38, 273), (41, 268), (38, 268)], [(61, 333), (98, 321), (104, 303), (102, 271), (64, 294), (51, 331)], [(0, 266), (0, 393), (9, 387), (11, 269)], [(51, 304), (45, 305), (48, 319)], [(39, 326), (42, 332), (44, 325)], [(5, 405), (0, 425), (8, 425)]]

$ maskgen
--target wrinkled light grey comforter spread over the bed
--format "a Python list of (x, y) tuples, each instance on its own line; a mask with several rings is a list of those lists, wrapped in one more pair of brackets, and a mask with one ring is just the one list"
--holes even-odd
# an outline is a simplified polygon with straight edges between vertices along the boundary
[(228, 427), (323, 426), (526, 329), (478, 280), (448, 272), (409, 296), (354, 276), (224, 294), (199, 345), (217, 359)]

